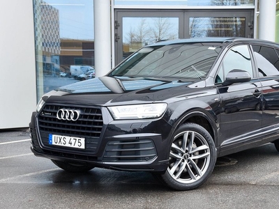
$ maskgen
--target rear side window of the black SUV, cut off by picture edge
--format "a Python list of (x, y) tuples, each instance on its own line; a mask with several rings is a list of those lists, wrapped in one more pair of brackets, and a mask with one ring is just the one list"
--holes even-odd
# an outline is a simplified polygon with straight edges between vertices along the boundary
[[(259, 76), (279, 75), (279, 59), (275, 49), (259, 45), (252, 45)], [(279, 52), (279, 50), (277, 50)]]

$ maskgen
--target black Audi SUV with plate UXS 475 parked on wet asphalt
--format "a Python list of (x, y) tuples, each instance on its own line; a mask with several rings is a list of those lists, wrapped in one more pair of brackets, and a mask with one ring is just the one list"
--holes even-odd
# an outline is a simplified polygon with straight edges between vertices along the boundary
[(69, 172), (149, 171), (172, 189), (195, 189), (217, 157), (266, 143), (279, 150), (278, 86), (275, 42), (157, 42), (104, 77), (43, 95), (31, 150)]

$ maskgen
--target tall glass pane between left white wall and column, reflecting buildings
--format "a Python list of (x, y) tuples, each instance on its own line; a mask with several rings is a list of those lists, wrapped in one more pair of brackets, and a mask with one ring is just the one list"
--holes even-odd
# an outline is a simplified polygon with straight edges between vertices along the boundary
[(37, 99), (94, 66), (93, 0), (33, 0)]

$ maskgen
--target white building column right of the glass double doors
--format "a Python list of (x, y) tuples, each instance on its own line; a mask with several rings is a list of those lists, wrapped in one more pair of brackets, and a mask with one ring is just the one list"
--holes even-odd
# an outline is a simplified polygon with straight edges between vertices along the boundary
[(275, 41), (276, 0), (259, 0), (259, 39)]

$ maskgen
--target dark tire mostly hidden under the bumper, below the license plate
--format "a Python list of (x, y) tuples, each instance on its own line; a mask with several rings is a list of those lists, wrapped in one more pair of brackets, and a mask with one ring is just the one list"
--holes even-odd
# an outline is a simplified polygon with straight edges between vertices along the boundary
[(63, 162), (59, 160), (52, 160), (52, 162), (59, 168), (63, 169), (64, 171), (68, 171), (71, 173), (79, 173), (79, 172), (86, 172), (93, 169), (93, 166), (88, 166), (84, 164), (76, 164), (70, 162)]

